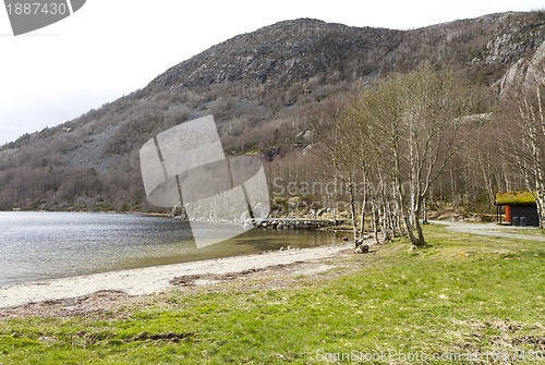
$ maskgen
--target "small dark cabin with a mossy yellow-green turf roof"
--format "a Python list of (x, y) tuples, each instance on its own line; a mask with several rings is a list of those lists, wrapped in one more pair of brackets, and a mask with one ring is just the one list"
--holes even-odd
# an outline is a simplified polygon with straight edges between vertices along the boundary
[(537, 204), (530, 192), (497, 193), (494, 204), (498, 223), (521, 227), (540, 226)]

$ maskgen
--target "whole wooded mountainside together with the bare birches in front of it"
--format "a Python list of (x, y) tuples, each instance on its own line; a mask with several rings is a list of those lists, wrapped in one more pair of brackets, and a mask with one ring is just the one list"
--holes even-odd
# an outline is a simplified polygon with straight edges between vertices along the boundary
[[(411, 31), (280, 22), (4, 145), (0, 209), (157, 210), (141, 146), (214, 114), (226, 151), (265, 161), (277, 215), (347, 202), (356, 231), (367, 214), (395, 234), (427, 210), (487, 211), (497, 191), (543, 192), (544, 39), (543, 12)], [(348, 188), (316, 188), (331, 180)]]

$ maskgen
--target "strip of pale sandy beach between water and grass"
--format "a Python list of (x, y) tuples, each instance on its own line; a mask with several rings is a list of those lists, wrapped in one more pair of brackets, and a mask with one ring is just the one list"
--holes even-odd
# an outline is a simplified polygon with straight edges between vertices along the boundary
[[(334, 256), (349, 247), (351, 245), (336, 244), (301, 250), (276, 251), (257, 255), (5, 285), (0, 288), (0, 308), (77, 297), (99, 291), (120, 291), (129, 295), (152, 294), (172, 287), (171, 281), (174, 278), (227, 275), (263, 269), (270, 266), (312, 261)], [(323, 269), (327, 269), (327, 266), (323, 266)]]

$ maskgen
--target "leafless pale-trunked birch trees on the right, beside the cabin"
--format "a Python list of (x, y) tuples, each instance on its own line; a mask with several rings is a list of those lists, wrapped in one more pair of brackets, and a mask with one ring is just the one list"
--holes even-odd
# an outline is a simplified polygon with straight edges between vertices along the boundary
[(513, 90), (483, 113), (479, 88), (452, 71), (422, 66), (329, 108), (315, 132), (329, 171), (347, 186), (354, 239), (370, 215), (377, 242), (382, 231), (386, 240), (407, 234), (425, 245), (426, 206), (445, 198), (444, 185), (463, 184), (463, 174), (479, 181), (491, 203), (497, 191), (528, 188), (543, 220), (542, 87)]

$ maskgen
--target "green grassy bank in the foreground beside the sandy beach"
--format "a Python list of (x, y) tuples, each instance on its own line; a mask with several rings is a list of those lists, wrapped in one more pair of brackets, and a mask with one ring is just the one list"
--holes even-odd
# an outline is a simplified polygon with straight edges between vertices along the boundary
[(537, 364), (545, 243), (425, 229), (431, 248), (397, 241), (332, 258), (319, 275), (172, 290), (94, 316), (3, 319), (0, 363)]

